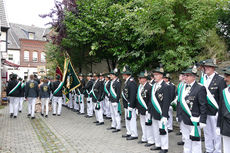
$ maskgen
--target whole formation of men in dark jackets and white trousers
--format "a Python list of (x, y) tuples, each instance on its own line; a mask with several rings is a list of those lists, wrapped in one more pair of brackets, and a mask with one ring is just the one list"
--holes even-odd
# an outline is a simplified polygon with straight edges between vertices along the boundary
[[(177, 144), (183, 145), (184, 153), (202, 152), (202, 131), (206, 153), (229, 153), (230, 67), (223, 70), (224, 77), (215, 71), (216, 67), (213, 60), (207, 59), (200, 62), (198, 68), (193, 66), (182, 71), (177, 88), (162, 67), (152, 73), (140, 72), (137, 84), (130, 68), (125, 66), (121, 71), (123, 86), (118, 69), (110, 73), (88, 73), (86, 81), (83, 74), (79, 74), (81, 86), (69, 95), (63, 94), (59, 75), (55, 81), (45, 77), (41, 83), (33, 75), (27, 82), (12, 75), (7, 87), (10, 116), (17, 117), (25, 98), (28, 100), (28, 117), (34, 119), (36, 99), (40, 98), (42, 116), (48, 117), (49, 102), (52, 101), (53, 115), (60, 116), (64, 105), (79, 115), (85, 114), (86, 118), (95, 114), (97, 126), (103, 125), (104, 119), (111, 120), (107, 130), (119, 133), (121, 115), (124, 114), (126, 133), (122, 138), (131, 141), (140, 136), (138, 144), (166, 153), (175, 110), (180, 127), (177, 135), (182, 135)], [(198, 69), (201, 71), (200, 81), (197, 81)], [(137, 130), (138, 116), (142, 133)]]

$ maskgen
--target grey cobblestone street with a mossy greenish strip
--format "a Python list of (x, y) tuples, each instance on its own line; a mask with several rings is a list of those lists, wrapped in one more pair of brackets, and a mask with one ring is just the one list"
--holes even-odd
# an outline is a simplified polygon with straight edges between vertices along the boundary
[[(49, 118), (43, 118), (36, 113), (36, 119), (31, 120), (27, 118), (26, 104), (18, 118), (11, 119), (8, 109), (6, 106), (0, 110), (1, 153), (154, 153), (138, 144), (138, 140), (121, 138), (125, 128), (116, 134), (106, 130), (110, 127), (109, 120), (105, 120), (105, 125), (96, 126), (94, 118), (87, 119), (65, 107), (61, 116), (52, 116), (50, 112)], [(139, 120), (138, 130), (140, 139)], [(169, 134), (169, 153), (182, 152), (182, 147), (176, 145), (181, 138), (175, 133)]]

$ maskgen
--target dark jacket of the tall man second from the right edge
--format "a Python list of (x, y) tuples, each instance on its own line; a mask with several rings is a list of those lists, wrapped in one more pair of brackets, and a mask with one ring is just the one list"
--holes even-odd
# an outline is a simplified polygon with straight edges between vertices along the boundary
[[(224, 78), (219, 76), (219, 74), (215, 74), (212, 78), (211, 83), (208, 86), (209, 91), (214, 96), (217, 104), (219, 105), (221, 101), (221, 94), (224, 88), (226, 88), (226, 83), (224, 81)], [(207, 108), (207, 115), (216, 115), (218, 110), (213, 108), (211, 105), (208, 104)]]

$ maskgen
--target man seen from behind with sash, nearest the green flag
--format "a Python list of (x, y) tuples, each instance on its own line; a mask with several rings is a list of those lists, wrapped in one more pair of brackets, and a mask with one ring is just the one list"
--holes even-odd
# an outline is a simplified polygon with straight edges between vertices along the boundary
[[(56, 76), (56, 80), (52, 83), (51, 87), (53, 93), (53, 115), (61, 115), (62, 109), (62, 91), (63, 91), (63, 82), (60, 81), (60, 75)], [(58, 106), (57, 106), (58, 104)]]

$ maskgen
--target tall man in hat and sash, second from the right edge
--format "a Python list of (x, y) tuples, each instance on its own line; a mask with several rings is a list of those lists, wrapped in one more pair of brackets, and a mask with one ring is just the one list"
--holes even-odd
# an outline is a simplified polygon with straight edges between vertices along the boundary
[(206, 153), (221, 153), (221, 137), (216, 135), (217, 117), (221, 94), (226, 83), (224, 78), (215, 72), (217, 67), (212, 59), (203, 61), (204, 77), (201, 78), (207, 91), (207, 126), (204, 128), (205, 148)]

